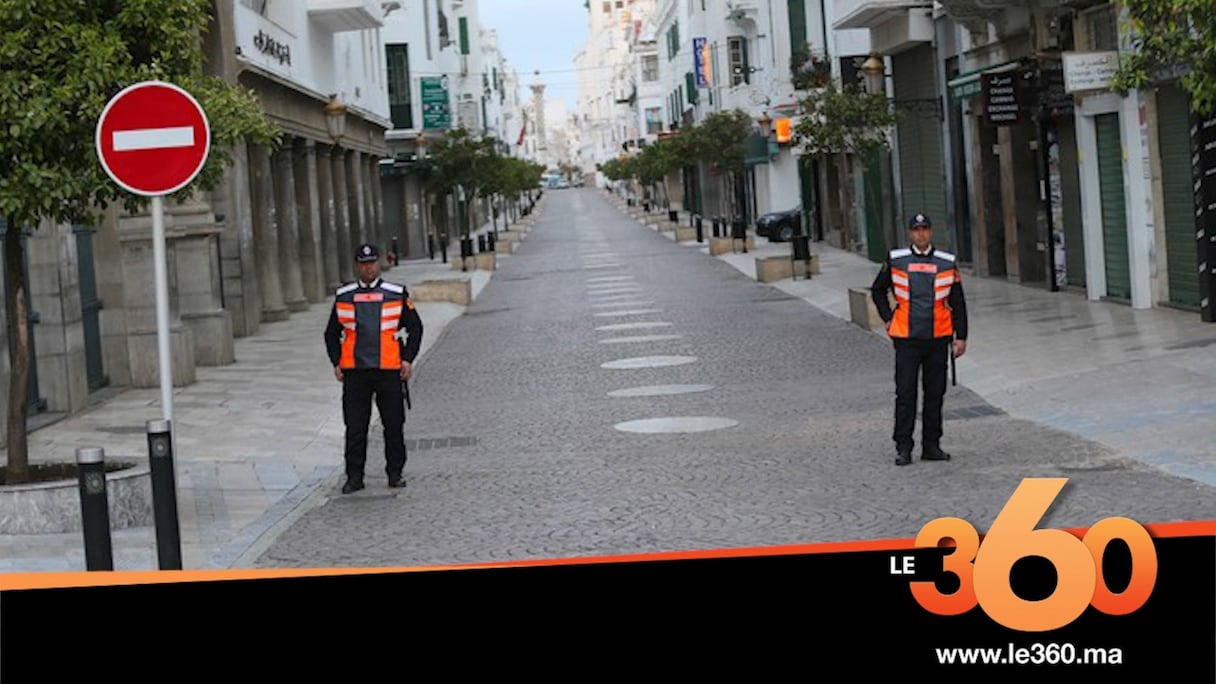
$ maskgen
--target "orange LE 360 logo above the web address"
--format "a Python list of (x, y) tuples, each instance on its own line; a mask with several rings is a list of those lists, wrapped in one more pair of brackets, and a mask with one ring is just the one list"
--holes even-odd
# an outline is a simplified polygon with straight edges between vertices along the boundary
[[(1087, 607), (1107, 615), (1128, 615), (1144, 605), (1156, 584), (1156, 549), (1148, 531), (1126, 517), (1098, 521), (1081, 538), (1063, 529), (1036, 529), (1066, 477), (1026, 478), (1006, 503), (984, 537), (957, 517), (930, 521), (916, 537), (917, 548), (953, 542), (942, 571), (958, 579), (958, 589), (941, 593), (933, 581), (910, 582), (912, 596), (924, 610), (962, 615), (976, 605), (992, 621), (1020, 632), (1047, 632), (1070, 624)], [(1131, 579), (1114, 593), (1103, 577), (1102, 560), (1114, 540), (1131, 553)], [(1055, 568), (1055, 588), (1042, 600), (1019, 596), (1010, 583), (1019, 560), (1038, 556)], [(895, 570), (895, 559), (891, 561)]]

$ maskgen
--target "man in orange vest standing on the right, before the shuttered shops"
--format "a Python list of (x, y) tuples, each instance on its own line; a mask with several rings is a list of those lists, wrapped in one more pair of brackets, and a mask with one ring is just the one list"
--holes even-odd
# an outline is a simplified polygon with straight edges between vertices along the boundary
[(912, 462), (918, 383), (924, 389), (921, 460), (950, 460), (941, 450), (946, 364), (951, 353), (967, 352), (967, 301), (955, 256), (933, 246), (933, 224), (924, 214), (908, 222), (908, 247), (890, 252), (869, 288), (895, 347), (895, 465)]

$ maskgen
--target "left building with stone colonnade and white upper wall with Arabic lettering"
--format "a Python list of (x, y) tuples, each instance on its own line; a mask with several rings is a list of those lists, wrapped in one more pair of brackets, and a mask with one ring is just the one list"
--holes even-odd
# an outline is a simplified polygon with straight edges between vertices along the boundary
[[(207, 73), (252, 90), (283, 138), (275, 148), (237, 145), (218, 190), (165, 202), (175, 386), (198, 366), (233, 363), (233, 338), (263, 321), (325, 305), (353, 246), (384, 237), (381, 2), (215, 0), (212, 10)], [(150, 217), (119, 206), (96, 230), (30, 232), (34, 420), (78, 411), (103, 387), (159, 385), (151, 247)]]

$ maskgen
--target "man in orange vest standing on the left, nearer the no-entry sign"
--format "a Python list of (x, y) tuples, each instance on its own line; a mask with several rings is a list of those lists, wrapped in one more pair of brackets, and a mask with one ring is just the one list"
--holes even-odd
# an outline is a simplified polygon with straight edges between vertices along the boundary
[(372, 399), (384, 425), (388, 486), (405, 487), (405, 388), (422, 344), (422, 319), (404, 286), (382, 280), (373, 245), (355, 251), (356, 280), (338, 288), (325, 348), (342, 383), (347, 424), (343, 494), (364, 488)]

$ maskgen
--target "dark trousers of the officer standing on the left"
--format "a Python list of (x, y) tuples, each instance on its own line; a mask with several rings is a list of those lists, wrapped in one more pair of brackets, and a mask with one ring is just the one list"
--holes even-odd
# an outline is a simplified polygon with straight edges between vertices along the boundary
[(384, 425), (384, 467), (389, 476), (405, 469), (405, 391), (395, 370), (345, 370), (342, 414), (347, 424), (347, 477), (362, 477), (367, 462), (367, 430), (372, 399)]

